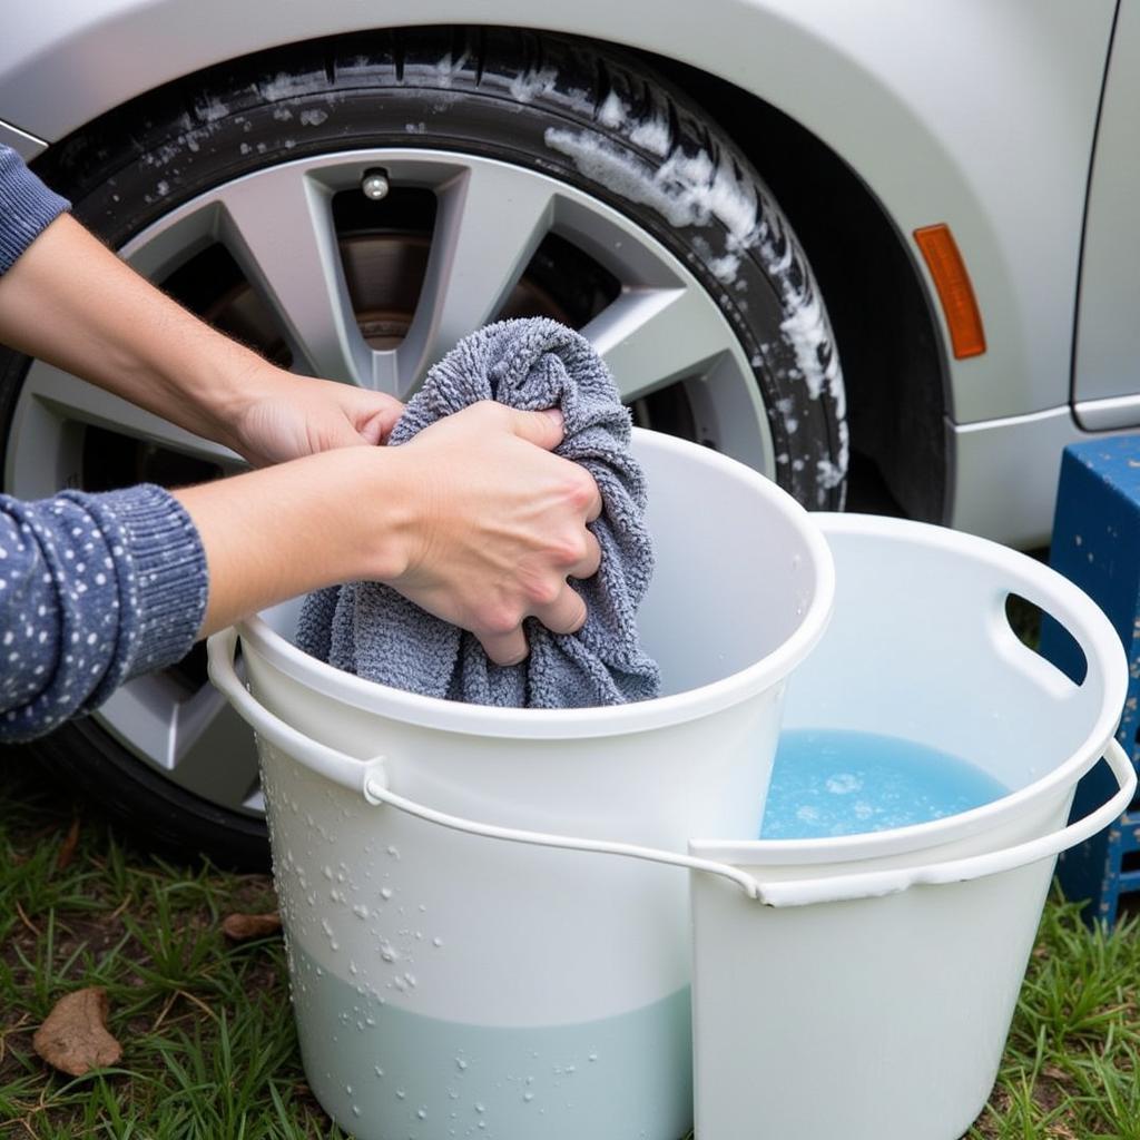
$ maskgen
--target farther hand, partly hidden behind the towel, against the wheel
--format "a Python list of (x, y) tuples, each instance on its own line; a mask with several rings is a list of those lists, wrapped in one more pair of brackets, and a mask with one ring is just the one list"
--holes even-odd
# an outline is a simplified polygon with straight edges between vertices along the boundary
[(337, 447), (383, 443), (402, 412), (399, 400), (382, 392), (266, 365), (217, 434), (228, 435), (235, 451), (263, 467)]

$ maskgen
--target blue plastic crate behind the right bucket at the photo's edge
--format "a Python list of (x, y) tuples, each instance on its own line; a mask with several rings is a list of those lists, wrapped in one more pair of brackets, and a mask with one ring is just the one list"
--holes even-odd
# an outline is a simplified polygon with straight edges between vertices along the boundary
[[(1108, 614), (1129, 659), (1129, 692), (1116, 739), (1140, 767), (1140, 437), (1065, 449), (1050, 564)], [(1076, 652), (1056, 622), (1043, 620), (1041, 651), (1072, 675)], [(1099, 764), (1077, 785), (1074, 817), (1115, 791)], [(1089, 921), (1116, 921), (1121, 896), (1140, 890), (1140, 799), (1106, 831), (1061, 855), (1057, 865), (1069, 898), (1089, 899)]]

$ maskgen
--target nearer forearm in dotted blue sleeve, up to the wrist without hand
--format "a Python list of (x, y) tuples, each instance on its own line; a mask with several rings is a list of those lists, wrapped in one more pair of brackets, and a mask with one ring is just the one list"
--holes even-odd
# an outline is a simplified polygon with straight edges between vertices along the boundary
[(396, 453), (353, 448), (176, 492), (0, 496), (0, 740), (90, 711), (260, 609), (398, 577), (414, 481)]

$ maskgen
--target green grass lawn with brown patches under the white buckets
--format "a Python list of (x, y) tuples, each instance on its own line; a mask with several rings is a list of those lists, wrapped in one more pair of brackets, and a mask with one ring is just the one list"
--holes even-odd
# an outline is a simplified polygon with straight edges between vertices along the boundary
[[(270, 881), (160, 862), (26, 764), (0, 752), (0, 1137), (342, 1137), (304, 1083), (280, 939), (221, 934), (274, 909)], [(123, 1057), (72, 1078), (32, 1033), (83, 986), (106, 988)], [(970, 1140), (1140, 1140), (1138, 986), (1134, 921), (1106, 937), (1051, 903)]]

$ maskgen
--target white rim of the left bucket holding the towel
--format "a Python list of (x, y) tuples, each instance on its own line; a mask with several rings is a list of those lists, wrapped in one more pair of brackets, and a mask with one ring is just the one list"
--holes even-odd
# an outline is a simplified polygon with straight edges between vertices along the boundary
[(710, 716), (773, 689), (819, 644), (834, 605), (834, 561), (815, 522), (820, 515), (809, 514), (783, 488), (736, 459), (662, 432), (634, 427), (633, 435), (641, 447), (673, 453), (686, 463), (703, 464), (744, 483), (795, 528), (807, 549), (805, 570), (809, 577), (805, 581), (812, 593), (798, 625), (746, 668), (695, 689), (629, 705), (520, 709), (466, 705), (365, 681), (298, 649), (261, 614), (236, 624), (243, 644), (293, 681), (341, 703), (420, 727), (475, 736), (549, 740), (645, 732)]

